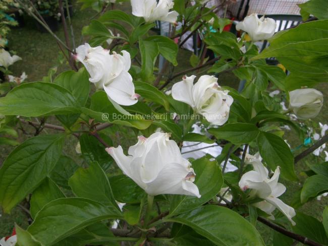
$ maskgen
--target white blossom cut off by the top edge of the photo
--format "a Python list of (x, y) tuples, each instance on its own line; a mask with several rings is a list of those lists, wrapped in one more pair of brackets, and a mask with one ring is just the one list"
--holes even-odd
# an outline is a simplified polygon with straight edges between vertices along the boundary
[(167, 21), (176, 23), (179, 13), (170, 11), (174, 7), (173, 0), (131, 0), (132, 14), (143, 17), (147, 23)]

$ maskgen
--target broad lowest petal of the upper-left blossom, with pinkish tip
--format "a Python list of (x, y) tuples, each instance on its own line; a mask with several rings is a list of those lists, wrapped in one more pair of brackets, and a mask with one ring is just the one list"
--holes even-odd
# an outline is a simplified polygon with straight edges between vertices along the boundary
[(106, 94), (120, 105), (133, 105), (138, 102), (131, 75), (122, 71), (120, 76), (108, 85), (103, 85)]

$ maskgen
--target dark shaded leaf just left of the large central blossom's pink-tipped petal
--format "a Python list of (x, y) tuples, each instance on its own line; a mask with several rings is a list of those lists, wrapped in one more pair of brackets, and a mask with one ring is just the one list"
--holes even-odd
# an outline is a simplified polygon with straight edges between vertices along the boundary
[[(99, 134), (100, 137), (108, 144), (113, 145), (113, 142), (104, 134)], [(84, 133), (80, 137), (81, 153), (89, 164), (96, 161), (104, 171), (107, 171), (113, 165), (113, 158), (105, 151), (105, 147), (90, 134)]]

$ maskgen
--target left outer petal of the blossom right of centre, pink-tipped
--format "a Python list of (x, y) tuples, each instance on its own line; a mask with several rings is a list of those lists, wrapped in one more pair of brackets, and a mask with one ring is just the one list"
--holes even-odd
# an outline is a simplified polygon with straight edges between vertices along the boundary
[(177, 101), (187, 103), (194, 107), (192, 88), (195, 78), (196, 76), (192, 75), (190, 77), (186, 77), (181, 82), (175, 83), (172, 87), (172, 97)]

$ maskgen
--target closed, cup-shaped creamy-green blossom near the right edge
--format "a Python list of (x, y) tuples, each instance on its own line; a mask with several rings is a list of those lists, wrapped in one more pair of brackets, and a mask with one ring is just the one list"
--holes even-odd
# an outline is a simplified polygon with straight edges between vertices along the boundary
[(318, 115), (323, 105), (323, 95), (313, 88), (296, 89), (289, 92), (289, 108), (300, 119), (313, 118)]

